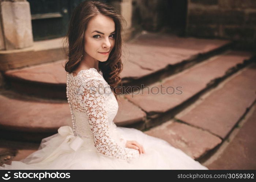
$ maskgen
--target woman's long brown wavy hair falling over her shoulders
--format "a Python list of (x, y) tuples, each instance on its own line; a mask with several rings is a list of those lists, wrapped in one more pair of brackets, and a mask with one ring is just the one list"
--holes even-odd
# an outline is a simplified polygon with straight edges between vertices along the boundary
[(68, 44), (68, 51), (65, 51), (68, 57), (65, 63), (65, 71), (71, 73), (79, 66), (84, 51), (84, 32), (89, 21), (100, 14), (112, 18), (115, 23), (114, 47), (110, 52), (108, 60), (106, 62), (99, 62), (99, 69), (102, 71), (104, 79), (108, 82), (116, 97), (117, 89), (114, 89), (114, 87), (121, 83), (120, 72), (123, 70), (123, 63), (121, 61), (123, 44), (121, 36), (123, 31), (122, 21), (125, 24), (127, 22), (114, 11), (112, 6), (100, 1), (84, 1), (75, 8), (69, 22), (68, 33), (64, 43)]

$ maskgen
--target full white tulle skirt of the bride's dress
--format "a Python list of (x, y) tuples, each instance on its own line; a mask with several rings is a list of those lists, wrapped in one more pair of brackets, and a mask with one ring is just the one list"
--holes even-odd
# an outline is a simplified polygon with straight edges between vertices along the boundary
[(86, 142), (73, 150), (66, 142), (67, 137), (57, 133), (42, 139), (39, 149), (27, 158), (12, 161), (11, 165), (3, 164), (0, 169), (208, 169), (162, 139), (135, 128), (116, 127), (116, 131), (125, 139), (140, 143), (145, 153), (127, 162), (99, 154)]

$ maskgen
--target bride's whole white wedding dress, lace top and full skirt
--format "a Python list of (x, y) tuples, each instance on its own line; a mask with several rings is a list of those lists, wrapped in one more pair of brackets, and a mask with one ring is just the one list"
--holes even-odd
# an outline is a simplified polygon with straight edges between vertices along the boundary
[[(67, 97), (69, 126), (42, 139), (27, 158), (0, 169), (208, 169), (162, 139), (117, 127), (118, 103), (101, 71), (67, 74)], [(145, 153), (125, 147), (127, 140), (140, 143)]]

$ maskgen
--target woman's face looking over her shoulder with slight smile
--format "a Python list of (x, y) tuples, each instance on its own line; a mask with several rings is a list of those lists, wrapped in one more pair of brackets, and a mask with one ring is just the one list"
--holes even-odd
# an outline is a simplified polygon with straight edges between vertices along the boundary
[(108, 60), (115, 43), (114, 31), (115, 23), (110, 17), (97, 15), (91, 19), (84, 32), (85, 59)]

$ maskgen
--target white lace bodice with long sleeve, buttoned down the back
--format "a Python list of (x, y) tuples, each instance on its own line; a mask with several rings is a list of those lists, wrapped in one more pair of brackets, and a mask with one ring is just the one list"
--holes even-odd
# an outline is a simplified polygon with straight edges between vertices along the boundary
[(118, 103), (102, 72), (81, 70), (76, 76), (69, 74), (67, 82), (76, 135), (91, 139), (102, 155), (126, 161), (138, 158), (139, 151), (126, 148), (126, 139), (117, 133), (113, 119)]

